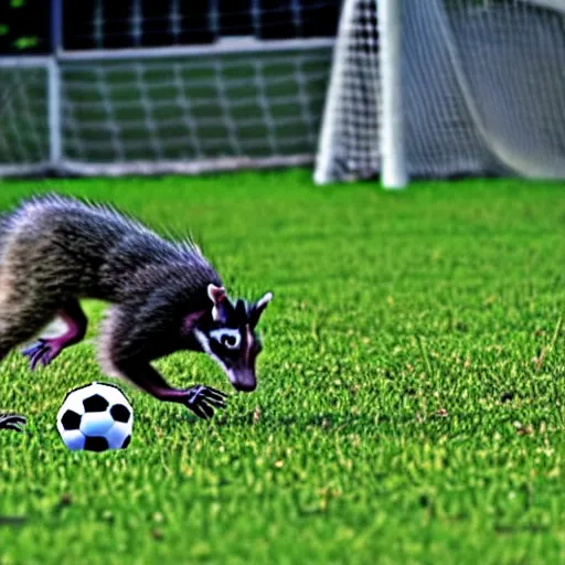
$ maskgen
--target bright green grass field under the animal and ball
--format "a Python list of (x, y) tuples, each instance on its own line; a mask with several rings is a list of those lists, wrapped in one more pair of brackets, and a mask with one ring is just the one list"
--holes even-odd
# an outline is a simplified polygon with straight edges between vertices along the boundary
[[(206, 424), (125, 384), (122, 452), (68, 452), (55, 428), (103, 379), (92, 343), (36, 374), (10, 355), (1, 406), (30, 424), (0, 434), (0, 514), (26, 521), (0, 525), (2, 565), (565, 558), (562, 185), (288, 171), (2, 183), (0, 206), (33, 190), (191, 230), (231, 292), (275, 300), (258, 391)], [(159, 366), (230, 391), (204, 356)]]

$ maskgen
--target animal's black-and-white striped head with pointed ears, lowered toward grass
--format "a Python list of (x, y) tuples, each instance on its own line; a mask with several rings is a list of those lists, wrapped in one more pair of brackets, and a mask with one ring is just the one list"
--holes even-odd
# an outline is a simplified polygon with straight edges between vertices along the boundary
[(236, 391), (252, 392), (257, 387), (255, 362), (262, 351), (256, 327), (273, 299), (267, 292), (257, 302), (232, 302), (225, 289), (209, 285), (212, 316), (198, 322), (194, 335), (202, 349), (224, 370)]

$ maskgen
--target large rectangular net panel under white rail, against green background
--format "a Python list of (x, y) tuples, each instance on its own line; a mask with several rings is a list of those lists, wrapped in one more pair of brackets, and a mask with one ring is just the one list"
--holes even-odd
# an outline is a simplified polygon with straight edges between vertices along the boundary
[(316, 152), (330, 49), (62, 66), (63, 168), (201, 172)]

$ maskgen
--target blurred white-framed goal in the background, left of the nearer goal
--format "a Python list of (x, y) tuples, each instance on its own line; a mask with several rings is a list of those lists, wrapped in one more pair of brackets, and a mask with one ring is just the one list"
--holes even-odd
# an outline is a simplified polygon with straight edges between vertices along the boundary
[(51, 2), (53, 53), (0, 64), (0, 175), (313, 163), (340, 0)]

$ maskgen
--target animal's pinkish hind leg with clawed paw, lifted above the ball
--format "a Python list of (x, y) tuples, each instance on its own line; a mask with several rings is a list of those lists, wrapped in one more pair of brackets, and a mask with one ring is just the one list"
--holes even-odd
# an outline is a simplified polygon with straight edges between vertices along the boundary
[(23, 351), (30, 359), (30, 367), (33, 371), (38, 363), (47, 365), (65, 348), (74, 345), (83, 340), (86, 334), (88, 320), (84, 315), (78, 300), (72, 299), (58, 309), (57, 315), (65, 322), (67, 330), (58, 338), (43, 338)]

